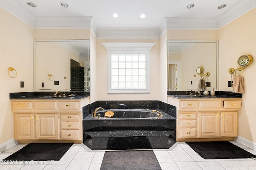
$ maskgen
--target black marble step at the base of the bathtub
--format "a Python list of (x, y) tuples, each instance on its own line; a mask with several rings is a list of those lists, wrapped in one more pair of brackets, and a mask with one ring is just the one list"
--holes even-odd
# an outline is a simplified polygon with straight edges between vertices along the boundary
[(84, 144), (92, 150), (169, 149), (175, 131), (85, 131)]

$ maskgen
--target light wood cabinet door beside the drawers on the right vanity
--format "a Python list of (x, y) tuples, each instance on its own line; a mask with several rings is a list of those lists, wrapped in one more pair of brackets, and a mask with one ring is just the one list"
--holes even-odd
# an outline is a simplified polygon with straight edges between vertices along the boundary
[(198, 137), (220, 136), (220, 112), (198, 112)]

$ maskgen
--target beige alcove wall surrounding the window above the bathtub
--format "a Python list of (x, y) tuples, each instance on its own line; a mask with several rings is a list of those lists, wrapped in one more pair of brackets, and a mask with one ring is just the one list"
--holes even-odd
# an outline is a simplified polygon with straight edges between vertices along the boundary
[[(108, 94), (107, 92), (107, 51), (102, 43), (105, 42), (147, 42), (156, 43), (151, 49), (150, 55), (150, 94)], [(159, 40), (97, 40), (97, 100), (159, 100)]]

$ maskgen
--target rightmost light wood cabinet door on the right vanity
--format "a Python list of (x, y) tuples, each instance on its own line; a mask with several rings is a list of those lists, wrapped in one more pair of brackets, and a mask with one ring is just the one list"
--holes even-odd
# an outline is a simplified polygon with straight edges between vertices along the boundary
[(237, 137), (237, 111), (222, 111), (220, 113), (220, 136)]

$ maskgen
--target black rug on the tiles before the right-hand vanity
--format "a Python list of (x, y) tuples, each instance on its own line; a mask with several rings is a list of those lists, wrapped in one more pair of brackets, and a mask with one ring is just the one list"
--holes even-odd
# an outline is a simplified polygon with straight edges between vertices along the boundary
[(246, 150), (228, 142), (186, 142), (204, 159), (256, 158)]

